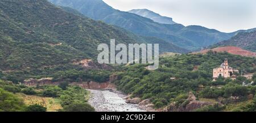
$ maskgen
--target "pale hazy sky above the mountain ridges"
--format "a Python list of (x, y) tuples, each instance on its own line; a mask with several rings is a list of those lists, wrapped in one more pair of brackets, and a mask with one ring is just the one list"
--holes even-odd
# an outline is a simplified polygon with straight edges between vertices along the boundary
[(148, 9), (176, 23), (233, 32), (256, 27), (256, 0), (103, 0), (114, 9)]

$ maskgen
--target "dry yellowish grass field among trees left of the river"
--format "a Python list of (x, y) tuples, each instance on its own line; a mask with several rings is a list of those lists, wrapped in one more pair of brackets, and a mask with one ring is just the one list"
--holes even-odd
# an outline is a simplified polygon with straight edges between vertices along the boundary
[(59, 109), (62, 109), (60, 105), (60, 100), (53, 97), (41, 97), (35, 95), (25, 95), (17, 94), (22, 97), (24, 103), (27, 105), (39, 104), (47, 108), (47, 112), (56, 112)]

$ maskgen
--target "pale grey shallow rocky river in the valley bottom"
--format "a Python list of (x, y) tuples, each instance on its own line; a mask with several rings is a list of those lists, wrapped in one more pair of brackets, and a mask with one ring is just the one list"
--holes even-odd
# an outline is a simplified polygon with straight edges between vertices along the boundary
[(88, 90), (91, 97), (88, 101), (97, 112), (145, 112), (138, 104), (125, 103), (125, 95), (108, 90)]

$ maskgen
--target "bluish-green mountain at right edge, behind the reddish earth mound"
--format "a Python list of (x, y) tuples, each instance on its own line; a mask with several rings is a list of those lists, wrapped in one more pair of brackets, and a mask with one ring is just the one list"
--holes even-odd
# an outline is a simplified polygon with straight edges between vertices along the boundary
[(213, 47), (227, 45), (238, 46), (242, 49), (250, 50), (251, 52), (256, 52), (256, 31), (240, 32), (231, 39), (221, 41), (220, 43), (213, 45)]

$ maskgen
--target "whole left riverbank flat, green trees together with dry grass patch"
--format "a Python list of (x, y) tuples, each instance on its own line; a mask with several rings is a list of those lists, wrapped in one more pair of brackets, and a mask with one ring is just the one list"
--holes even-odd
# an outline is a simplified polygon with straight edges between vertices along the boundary
[[(0, 111), (91, 112), (94, 111), (94, 108), (87, 103), (88, 94), (88, 91), (78, 86), (65, 85), (65, 90), (63, 90), (58, 86), (26, 87), (0, 80)], [(79, 109), (81, 105), (84, 107)]]

